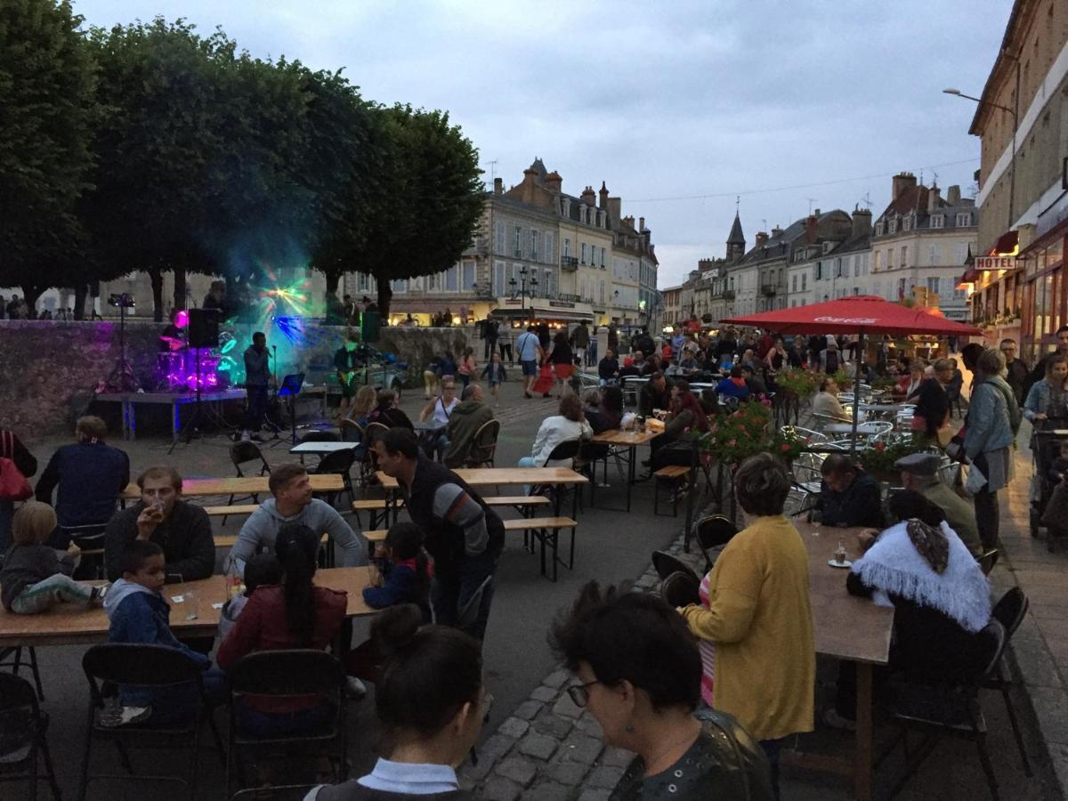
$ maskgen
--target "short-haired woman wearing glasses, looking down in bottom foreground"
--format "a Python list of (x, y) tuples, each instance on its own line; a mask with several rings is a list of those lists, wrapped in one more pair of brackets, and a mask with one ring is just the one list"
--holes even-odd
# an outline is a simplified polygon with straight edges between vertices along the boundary
[(575, 674), (568, 694), (588, 707), (604, 741), (638, 754), (612, 794), (625, 799), (770, 799), (767, 760), (731, 718), (693, 717), (701, 656), (660, 598), (583, 587), (549, 642)]

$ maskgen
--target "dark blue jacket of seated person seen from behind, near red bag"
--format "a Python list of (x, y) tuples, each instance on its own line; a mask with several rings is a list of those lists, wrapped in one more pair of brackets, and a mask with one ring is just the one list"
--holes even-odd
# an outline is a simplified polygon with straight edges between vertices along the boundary
[(129, 483), (130, 460), (123, 451), (104, 442), (78, 442), (52, 454), (34, 494), (51, 503), (59, 485), (56, 515), (60, 525), (105, 523)]

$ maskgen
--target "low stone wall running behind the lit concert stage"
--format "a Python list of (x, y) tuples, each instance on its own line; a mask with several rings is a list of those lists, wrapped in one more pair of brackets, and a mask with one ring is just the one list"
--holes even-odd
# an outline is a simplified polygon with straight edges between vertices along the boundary
[[(157, 380), (161, 328), (143, 320), (126, 325), (126, 356), (145, 390)], [(234, 331), (238, 354), (251, 335), (245, 328)], [(279, 348), (279, 375), (312, 364), (323, 375), (345, 333), (345, 328), (308, 323), (298, 343)], [(267, 334), (269, 341), (282, 341), (278, 331)], [(408, 362), (409, 386), (421, 386), (423, 367), (434, 354), (447, 348), (458, 356), (475, 339), (473, 328), (383, 328), (376, 347)], [(0, 320), (0, 426), (28, 439), (70, 431), (120, 354), (120, 327), (112, 320)], [(481, 356), (480, 350), (480, 362)], [(109, 423), (115, 425), (117, 407), (110, 411), (114, 417)]]

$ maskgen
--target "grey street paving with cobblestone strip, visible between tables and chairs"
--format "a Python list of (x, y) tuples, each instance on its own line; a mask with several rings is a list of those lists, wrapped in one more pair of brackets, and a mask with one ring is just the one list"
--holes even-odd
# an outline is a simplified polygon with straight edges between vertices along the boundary
[[(422, 405), (422, 393), (408, 392), (403, 406), (414, 415)], [(514, 465), (521, 455), (529, 453), (534, 433), (544, 417), (553, 413), (554, 400), (541, 398), (525, 400), (515, 382), (507, 384), (499, 408), (505, 422), (502, 429), (497, 464)], [(113, 442), (123, 446), (119, 441)], [(57, 442), (35, 443), (38, 459), (47, 459)], [(187, 477), (226, 475), (232, 472), (226, 455), (229, 442), (221, 437), (179, 445), (173, 457), (166, 455), (168, 442), (162, 436), (147, 436), (135, 443), (126, 443), (135, 471), (150, 465), (168, 462), (176, 465)], [(266, 447), (271, 464), (288, 459), (284, 446)], [(1026, 480), (1030, 467), (1027, 454), (1021, 450), (1020, 469), (1012, 491), (1002, 505), (1002, 535), (1008, 547), (1006, 559), (999, 564), (992, 580), (999, 594), (1014, 580), (1021, 583), (1032, 596), (1032, 616), (1018, 634), (1017, 648), (1025, 678), (1034, 685), (1039, 707), (1039, 720), (1062, 737), (1057, 742), (1068, 743), (1068, 701), (1065, 700), (1063, 681), (1068, 668), (1068, 629), (1063, 612), (1068, 604), (1064, 590), (1063, 572), (1068, 566), (1065, 551), (1050, 555), (1045, 543), (1031, 540), (1025, 527)], [(610, 473), (610, 481), (617, 485), (617, 474)], [(503, 488), (502, 488), (502, 491)], [(591, 509), (588, 497), (579, 515), (576, 546), (576, 569), (561, 570), (560, 580), (552, 583), (538, 575), (537, 557), (521, 548), (521, 540), (508, 543), (501, 562), (499, 591), (486, 640), (486, 676), (496, 696), (489, 726), (483, 738), (482, 756), (477, 767), (467, 766), (461, 775), (476, 782), (486, 798), (607, 798), (610, 787), (626, 764), (628, 755), (604, 751), (597, 738), (596, 723), (569, 702), (561, 700), (561, 688), (566, 685), (565, 674), (556, 672), (546, 647), (545, 634), (552, 615), (570, 602), (579, 586), (591, 578), (606, 582), (640, 579), (643, 586), (653, 586), (649, 553), (661, 547), (678, 548), (678, 534), (682, 516), (654, 517), (651, 514), (651, 487), (647, 484), (635, 488), (634, 504), (630, 515), (601, 508)], [(622, 507), (619, 487), (613, 487), (598, 500)], [(218, 527), (219, 518), (215, 518)], [(1019, 522), (1018, 522), (1019, 521)], [(355, 520), (354, 520), (355, 522)], [(225, 530), (236, 533), (240, 520), (231, 519)], [(672, 545), (674, 543), (674, 545)], [(220, 554), (221, 555), (221, 554)], [(646, 574), (644, 578), (643, 574)], [(365, 624), (357, 626), (359, 638)], [(84, 731), (87, 707), (85, 680), (80, 671), (80, 647), (43, 647), (38, 659), (45, 682), (44, 708), (51, 716), (49, 741), (57, 757), (60, 782), (64, 795), (74, 796)], [(1052, 654), (1052, 656), (1049, 656)], [(1046, 655), (1046, 656), (1043, 656)], [(1037, 665), (1037, 666), (1036, 666)], [(820, 681), (833, 682), (835, 665), (820, 665)], [(826, 695), (829, 687), (821, 688)], [(1053, 781), (1053, 770), (1036, 738), (1036, 725), (1027, 700), (1015, 693), (1028, 743), (1028, 752), (1036, 766), (1036, 778), (1027, 780), (1020, 769), (1016, 745), (1011, 739), (1000, 696), (986, 693), (984, 711), (990, 726), (990, 751), (1002, 789), (1002, 798), (1054, 799), (1061, 798)], [(220, 716), (220, 723), (223, 718)], [(374, 720), (373, 697), (352, 707), (351, 714), (352, 770), (355, 774), (367, 769), (374, 760), (374, 747), (378, 728)], [(892, 732), (880, 729), (880, 741), (885, 742)], [(223, 727), (223, 736), (225, 728)], [(838, 733), (819, 732), (804, 738), (806, 750), (848, 753), (851, 740)], [(1062, 749), (1068, 747), (1062, 745)], [(877, 748), (877, 753), (879, 749)], [(113, 763), (113, 752), (98, 752), (99, 761)], [(222, 769), (208, 751), (201, 754), (201, 797), (219, 797), (222, 788)], [(139, 770), (180, 763), (168, 758), (135, 755)], [(1063, 770), (1068, 756), (1061, 754), (1057, 763)], [(901, 767), (900, 749), (882, 766), (876, 775), (877, 794), (885, 791), (898, 775)], [(584, 791), (578, 789), (585, 788)], [(210, 788), (210, 789), (208, 789)], [(138, 785), (125, 783), (94, 783), (90, 798), (135, 799), (143, 798)], [(21, 788), (5, 787), (3, 798), (23, 798)], [(177, 785), (153, 784), (152, 798), (178, 798)], [(783, 797), (786, 799), (835, 799), (849, 797), (849, 784), (844, 779), (787, 769), (784, 771)], [(986, 786), (979, 770), (974, 747), (968, 743), (947, 742), (938, 747), (928, 765), (906, 788), (901, 796), (909, 799), (973, 799), (985, 798)]]

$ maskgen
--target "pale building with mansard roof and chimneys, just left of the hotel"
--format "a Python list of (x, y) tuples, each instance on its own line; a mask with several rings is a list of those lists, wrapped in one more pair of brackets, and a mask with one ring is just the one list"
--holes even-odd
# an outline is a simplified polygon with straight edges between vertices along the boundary
[(926, 299), (947, 318), (967, 320), (967, 293), (957, 285), (975, 246), (978, 217), (960, 187), (949, 187), (942, 198), (937, 186), (918, 184), (912, 173), (895, 175), (871, 237), (871, 294)]

